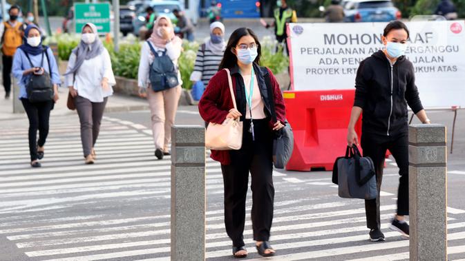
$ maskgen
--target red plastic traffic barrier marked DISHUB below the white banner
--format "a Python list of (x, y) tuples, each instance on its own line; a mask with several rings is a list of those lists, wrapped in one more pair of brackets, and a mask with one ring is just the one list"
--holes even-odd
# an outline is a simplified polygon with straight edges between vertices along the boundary
[[(287, 121), (294, 132), (294, 152), (287, 170), (332, 170), (345, 152), (355, 90), (284, 92)], [(355, 127), (361, 134), (361, 121)]]

